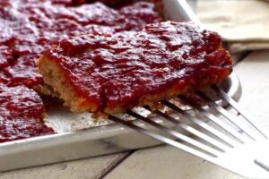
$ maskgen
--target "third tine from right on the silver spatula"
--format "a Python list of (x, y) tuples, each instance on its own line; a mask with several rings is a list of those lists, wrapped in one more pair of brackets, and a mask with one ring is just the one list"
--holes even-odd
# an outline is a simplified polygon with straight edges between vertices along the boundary
[(230, 125), (225, 124), (223, 121), (221, 121), (221, 119), (219, 119), (215, 115), (213, 115), (213, 114), (207, 112), (206, 110), (204, 110), (203, 107), (200, 107), (198, 105), (195, 105), (194, 102), (192, 102), (191, 100), (189, 100), (188, 98), (186, 98), (184, 96), (180, 96), (178, 98), (180, 98), (181, 100), (183, 100), (190, 107), (194, 107), (196, 110), (198, 110), (199, 112), (201, 112), (204, 116), (206, 116), (208, 119), (210, 119), (211, 121), (213, 121), (214, 124), (219, 125), (223, 130), (225, 130), (226, 132), (229, 132), (230, 135), (232, 135), (233, 137), (235, 137), (241, 143), (245, 143), (246, 142), (246, 139), (244, 139), (244, 136), (242, 134), (240, 134), (239, 132), (237, 132), (236, 130), (234, 130), (232, 127), (230, 127)]

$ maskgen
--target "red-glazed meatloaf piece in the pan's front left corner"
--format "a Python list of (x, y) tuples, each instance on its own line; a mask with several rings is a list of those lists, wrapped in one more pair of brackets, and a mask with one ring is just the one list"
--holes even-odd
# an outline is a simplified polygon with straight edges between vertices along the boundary
[(43, 124), (44, 112), (42, 100), (34, 90), (0, 83), (0, 142), (53, 133)]

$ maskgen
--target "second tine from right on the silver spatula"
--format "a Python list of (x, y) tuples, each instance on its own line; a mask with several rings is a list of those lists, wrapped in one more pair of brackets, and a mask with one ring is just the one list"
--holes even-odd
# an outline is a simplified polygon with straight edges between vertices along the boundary
[(219, 111), (222, 115), (224, 115), (229, 121), (230, 123), (234, 124), (235, 126), (237, 126), (240, 130), (242, 130), (243, 132), (245, 132), (247, 134), (247, 136), (249, 138), (251, 138), (252, 140), (255, 141), (256, 138), (256, 134), (250, 130), (249, 128), (247, 128), (245, 125), (239, 124), (239, 121), (236, 119), (235, 116), (231, 115), (227, 110), (225, 110), (223, 107), (221, 107), (220, 105), (217, 105), (213, 99), (209, 98), (207, 95), (205, 95), (203, 92), (201, 91), (196, 91), (195, 92), (200, 98), (203, 98), (206, 102), (208, 102), (208, 105), (213, 107), (214, 109), (216, 109), (217, 111)]

